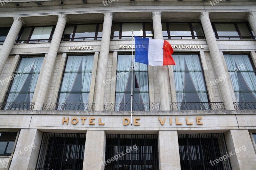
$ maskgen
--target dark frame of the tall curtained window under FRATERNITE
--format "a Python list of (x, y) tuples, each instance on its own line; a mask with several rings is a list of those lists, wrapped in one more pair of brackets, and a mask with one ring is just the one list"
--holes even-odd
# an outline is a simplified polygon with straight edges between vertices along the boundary
[[(206, 81), (205, 81), (205, 75), (204, 75), (204, 68), (203, 68), (203, 64), (202, 64), (202, 60), (201, 60), (201, 57), (200, 57), (200, 54), (198, 52), (191, 52), (191, 53), (186, 53), (186, 52), (177, 52), (177, 53), (173, 53), (173, 55), (198, 55), (198, 58), (199, 58), (199, 61), (200, 61), (200, 64), (201, 64), (201, 67), (202, 67), (202, 70), (194, 70), (194, 72), (201, 72), (203, 73), (203, 76), (204, 76), (204, 86), (206, 88), (206, 91), (177, 91), (175, 89), (175, 93), (179, 93), (179, 92), (183, 92), (184, 93), (184, 98), (185, 98), (185, 93), (197, 93), (198, 94), (198, 97), (199, 97), (199, 93), (206, 93), (207, 94), (207, 99), (208, 99), (208, 103), (210, 102), (210, 98), (209, 98), (209, 90), (207, 88), (207, 85), (206, 85)], [(174, 72), (185, 72), (185, 73), (189, 73), (189, 72), (192, 72), (192, 70), (175, 70), (173, 68), (173, 73)], [(176, 88), (176, 87), (175, 87)], [(200, 97), (199, 97), (200, 99)], [(186, 99), (185, 99), (186, 100)], [(186, 102), (181, 102), (181, 103), (186, 103)], [(202, 101), (200, 101), (200, 103), (202, 103)]]

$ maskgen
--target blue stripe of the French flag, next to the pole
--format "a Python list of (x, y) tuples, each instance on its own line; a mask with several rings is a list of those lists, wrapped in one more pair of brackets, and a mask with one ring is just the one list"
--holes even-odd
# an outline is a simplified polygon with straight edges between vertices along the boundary
[(149, 38), (134, 36), (135, 39), (135, 62), (148, 65), (148, 42)]

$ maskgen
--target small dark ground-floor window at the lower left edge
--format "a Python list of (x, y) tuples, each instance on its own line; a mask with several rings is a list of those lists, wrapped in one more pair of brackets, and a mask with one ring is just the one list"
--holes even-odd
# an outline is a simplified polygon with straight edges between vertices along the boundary
[(17, 132), (0, 132), (0, 155), (11, 155)]

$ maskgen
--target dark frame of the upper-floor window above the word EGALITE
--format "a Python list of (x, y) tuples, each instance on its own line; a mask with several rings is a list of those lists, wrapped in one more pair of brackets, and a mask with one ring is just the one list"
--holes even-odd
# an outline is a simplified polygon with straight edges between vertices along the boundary
[[(123, 24), (137, 24), (137, 23), (142, 23), (142, 29), (143, 29), (143, 36), (139, 36), (142, 38), (148, 38), (151, 37), (152, 39), (154, 39), (154, 30), (153, 30), (153, 36), (146, 36), (146, 24), (150, 23), (153, 26), (152, 22), (115, 22), (112, 23), (113, 24), (119, 24), (119, 36), (111, 36), (110, 40), (126, 40), (126, 39), (122, 39), (122, 38), (131, 38), (131, 36), (122, 36), (122, 26)], [(114, 39), (114, 38), (118, 38), (118, 39)]]

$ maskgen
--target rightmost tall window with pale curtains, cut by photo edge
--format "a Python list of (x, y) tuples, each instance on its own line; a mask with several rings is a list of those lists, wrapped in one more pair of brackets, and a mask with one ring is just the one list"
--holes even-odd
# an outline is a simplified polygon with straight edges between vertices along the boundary
[(246, 54), (224, 54), (237, 102), (256, 102), (256, 69)]

